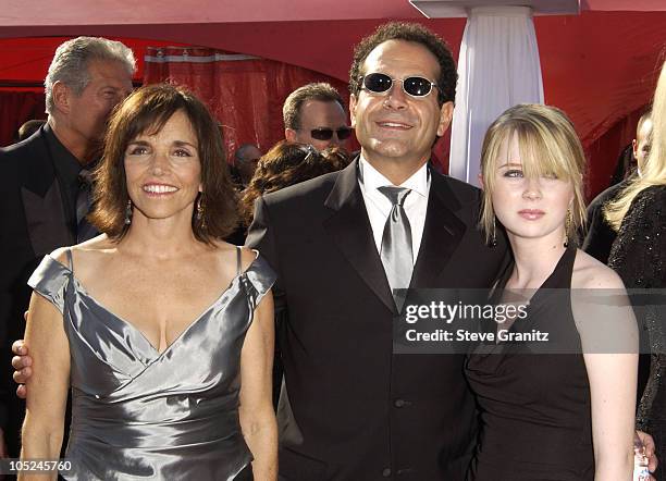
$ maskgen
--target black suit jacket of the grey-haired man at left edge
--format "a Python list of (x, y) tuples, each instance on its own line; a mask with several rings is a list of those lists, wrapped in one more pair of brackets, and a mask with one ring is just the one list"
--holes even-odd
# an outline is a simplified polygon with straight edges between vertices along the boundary
[(46, 254), (72, 245), (75, 239), (44, 128), (22, 143), (0, 149), (0, 421), (12, 456), (18, 454), (23, 402), (14, 395), (11, 343), (23, 337), (23, 312), (32, 293), (26, 283)]

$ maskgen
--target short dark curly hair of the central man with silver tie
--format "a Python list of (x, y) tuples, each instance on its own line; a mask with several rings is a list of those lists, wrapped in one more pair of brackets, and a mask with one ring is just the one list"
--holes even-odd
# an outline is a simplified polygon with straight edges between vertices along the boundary
[(417, 23), (391, 22), (377, 27), (373, 34), (363, 38), (354, 49), (354, 60), (349, 70), (349, 91), (358, 96), (360, 79), (363, 76), (363, 62), (379, 45), (388, 40), (404, 40), (420, 44), (437, 59), (440, 77), (437, 83), (437, 101), (440, 106), (456, 99), (458, 73), (456, 62), (448, 45), (436, 34)]

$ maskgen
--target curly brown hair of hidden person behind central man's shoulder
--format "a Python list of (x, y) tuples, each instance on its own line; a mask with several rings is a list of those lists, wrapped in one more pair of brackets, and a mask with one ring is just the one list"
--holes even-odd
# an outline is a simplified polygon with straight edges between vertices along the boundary
[(312, 146), (281, 140), (257, 164), (252, 180), (240, 199), (245, 225), (252, 222), (255, 200), (289, 185), (335, 172), (349, 164), (347, 153), (337, 147), (319, 151)]

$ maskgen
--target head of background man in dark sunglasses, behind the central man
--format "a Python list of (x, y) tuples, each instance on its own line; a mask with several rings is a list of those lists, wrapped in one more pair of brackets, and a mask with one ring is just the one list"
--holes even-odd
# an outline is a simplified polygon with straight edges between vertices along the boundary
[(284, 101), (284, 137), (318, 150), (346, 147), (351, 130), (343, 99), (330, 84), (304, 85)]

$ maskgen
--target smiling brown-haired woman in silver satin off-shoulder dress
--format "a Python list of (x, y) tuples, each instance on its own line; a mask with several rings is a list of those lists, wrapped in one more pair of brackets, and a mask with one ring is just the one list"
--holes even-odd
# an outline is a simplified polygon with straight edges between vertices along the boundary
[(234, 480), (252, 457), (255, 479), (274, 480), (275, 278), (221, 240), (236, 207), (215, 122), (181, 88), (140, 88), (96, 181), (104, 234), (29, 281), (22, 457), (58, 458), (71, 385), (67, 480)]

